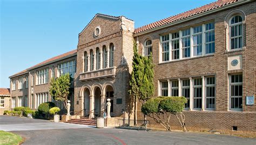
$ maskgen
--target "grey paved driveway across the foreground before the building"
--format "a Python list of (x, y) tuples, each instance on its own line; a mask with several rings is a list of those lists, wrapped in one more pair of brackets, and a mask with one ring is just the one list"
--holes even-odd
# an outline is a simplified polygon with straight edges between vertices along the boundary
[[(10, 121), (11, 124), (8, 124), (9, 119), (12, 120)], [(28, 125), (26, 121), (31, 121), (29, 124), (36, 128), (24, 131), (22, 128)], [(23, 124), (24, 127), (18, 126), (16, 130), (12, 129), (11, 132), (23, 136), (26, 139), (24, 144), (256, 144), (256, 139), (229, 135), (191, 132), (145, 132), (111, 128), (98, 129), (85, 125), (56, 124), (45, 121), (0, 116), (0, 130), (2, 126), (14, 126), (15, 122), (16, 124)], [(48, 128), (42, 129), (42, 126), (44, 126), (42, 124), (48, 126)], [(65, 129), (60, 129), (61, 127), (59, 126), (65, 127)]]

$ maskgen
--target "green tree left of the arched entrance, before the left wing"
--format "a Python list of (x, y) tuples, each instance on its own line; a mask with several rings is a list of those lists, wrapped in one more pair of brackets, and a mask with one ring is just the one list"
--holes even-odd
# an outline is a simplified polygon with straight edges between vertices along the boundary
[(69, 75), (69, 73), (58, 78), (52, 78), (50, 82), (50, 95), (53, 97), (53, 99), (62, 101), (66, 109), (71, 82), (72, 77)]

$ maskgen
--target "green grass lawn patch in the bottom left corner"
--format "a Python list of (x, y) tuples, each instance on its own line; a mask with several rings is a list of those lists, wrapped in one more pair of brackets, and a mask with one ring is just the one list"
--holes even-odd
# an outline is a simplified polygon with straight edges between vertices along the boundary
[(18, 144), (22, 142), (22, 137), (10, 132), (0, 131), (0, 145), (2, 144)]

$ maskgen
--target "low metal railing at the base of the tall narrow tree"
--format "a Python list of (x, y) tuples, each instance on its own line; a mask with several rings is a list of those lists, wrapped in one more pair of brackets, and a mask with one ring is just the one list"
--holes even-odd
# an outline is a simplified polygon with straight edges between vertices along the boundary
[(136, 124), (134, 120), (129, 119), (119, 119), (118, 124), (120, 128), (133, 128), (138, 130), (151, 130), (151, 124), (149, 120), (136, 120)]

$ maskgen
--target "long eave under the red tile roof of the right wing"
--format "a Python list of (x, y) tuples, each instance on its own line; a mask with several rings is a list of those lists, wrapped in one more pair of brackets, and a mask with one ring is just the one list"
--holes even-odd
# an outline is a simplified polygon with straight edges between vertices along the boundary
[(215, 12), (219, 12), (219, 11), (223, 11), (223, 10), (226, 10), (226, 9), (230, 9), (230, 8), (235, 7), (235, 6), (239, 6), (239, 5), (242, 5), (242, 4), (250, 3), (252, 1), (253, 0), (240, 0), (240, 1), (235, 2), (235, 3), (231, 3), (231, 4), (227, 4), (227, 5), (221, 6), (220, 8), (209, 10), (209, 11), (206, 11), (206, 12), (203, 12), (203, 13), (198, 13), (198, 14), (195, 14), (194, 16), (190, 16), (190, 17), (187, 17), (187, 18), (184, 18), (184, 19), (180, 19), (180, 20), (174, 21), (174, 22), (169, 23), (169, 24), (161, 25), (161, 26), (158, 26), (158, 27), (155, 27), (155, 28), (151, 28), (150, 30), (145, 30), (143, 32), (139, 32), (139, 33), (133, 34), (133, 37), (137, 37), (139, 35), (144, 35), (144, 34), (147, 34), (147, 33), (153, 32), (153, 31), (157, 31), (157, 30), (160, 30), (160, 29), (163, 29), (163, 28), (166, 28), (166, 27), (170, 27), (170, 26), (173, 26), (173, 25), (184, 23), (185, 21), (193, 20), (193, 19), (196, 19), (196, 18), (199, 18), (199, 17), (206, 16), (208, 14), (212, 14), (212, 13), (215, 13)]

